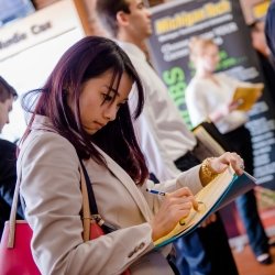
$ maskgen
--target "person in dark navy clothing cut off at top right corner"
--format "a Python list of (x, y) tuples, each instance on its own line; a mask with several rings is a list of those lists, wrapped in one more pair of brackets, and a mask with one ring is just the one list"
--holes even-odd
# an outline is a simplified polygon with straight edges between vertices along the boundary
[(275, 0), (272, 0), (265, 18), (265, 36), (275, 61)]

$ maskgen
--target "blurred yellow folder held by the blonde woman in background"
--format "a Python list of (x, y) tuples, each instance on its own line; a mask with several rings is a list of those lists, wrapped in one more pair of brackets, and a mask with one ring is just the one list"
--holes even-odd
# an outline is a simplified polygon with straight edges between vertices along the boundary
[(262, 96), (263, 89), (263, 84), (238, 87), (233, 95), (233, 101), (239, 101), (240, 103), (237, 110), (249, 111)]

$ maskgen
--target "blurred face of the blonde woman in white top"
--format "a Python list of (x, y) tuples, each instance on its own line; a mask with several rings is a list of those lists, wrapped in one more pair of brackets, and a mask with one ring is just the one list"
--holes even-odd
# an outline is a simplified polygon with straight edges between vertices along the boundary
[(196, 56), (196, 67), (197, 69), (206, 73), (213, 73), (219, 63), (219, 50), (216, 45), (207, 45), (201, 52)]

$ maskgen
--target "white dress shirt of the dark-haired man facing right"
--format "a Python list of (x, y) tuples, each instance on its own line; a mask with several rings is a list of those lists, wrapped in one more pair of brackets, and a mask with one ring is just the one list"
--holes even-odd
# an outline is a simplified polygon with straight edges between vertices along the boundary
[[(148, 169), (155, 173), (160, 180), (169, 179), (180, 173), (174, 161), (194, 148), (195, 136), (185, 125), (166, 86), (147, 63), (145, 54), (133, 44), (119, 44), (131, 58), (144, 87), (144, 109), (134, 121), (134, 128)], [(136, 102), (135, 96), (136, 92), (130, 95), (132, 110)]]

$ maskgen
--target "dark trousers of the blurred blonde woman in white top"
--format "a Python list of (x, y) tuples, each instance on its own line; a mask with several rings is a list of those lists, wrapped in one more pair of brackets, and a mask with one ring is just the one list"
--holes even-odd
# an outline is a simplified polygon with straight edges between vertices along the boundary
[[(231, 148), (240, 154), (244, 160), (245, 170), (253, 175), (253, 153), (249, 130), (241, 127), (234, 131), (223, 134), (223, 136)], [(235, 205), (243, 221), (251, 249), (253, 250), (255, 256), (267, 253), (268, 239), (258, 216), (254, 190), (250, 190), (237, 198)]]

